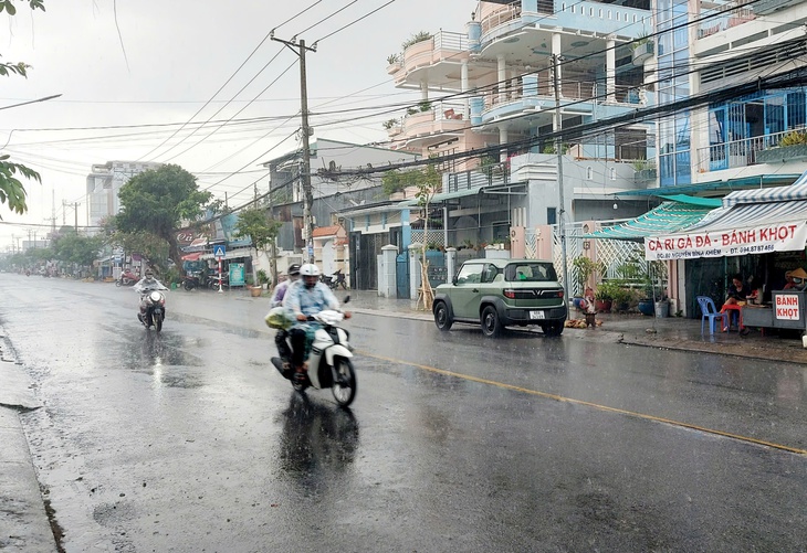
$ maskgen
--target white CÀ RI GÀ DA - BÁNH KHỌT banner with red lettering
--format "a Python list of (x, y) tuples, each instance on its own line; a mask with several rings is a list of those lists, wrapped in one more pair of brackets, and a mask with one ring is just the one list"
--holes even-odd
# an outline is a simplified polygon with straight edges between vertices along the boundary
[(648, 260), (694, 259), (804, 249), (807, 222), (644, 238)]

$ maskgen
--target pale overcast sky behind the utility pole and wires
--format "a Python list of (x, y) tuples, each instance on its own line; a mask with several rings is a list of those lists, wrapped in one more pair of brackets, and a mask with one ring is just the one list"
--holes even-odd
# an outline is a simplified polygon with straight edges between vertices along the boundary
[[(0, 15), (0, 54), (32, 68), (28, 78), (3, 77), (0, 107), (62, 96), (0, 113), (4, 152), (43, 178), (42, 184), (27, 183), (28, 214), (0, 206), (0, 251), (11, 245), (12, 234), (46, 233), (17, 223), (49, 225), (54, 203), (56, 225), (72, 224), (73, 210), (62, 202), (84, 201), (93, 163), (177, 163), (217, 198), (227, 192), (231, 205), (249, 200), (255, 180), (265, 191), (259, 161), (294, 150), (300, 126), (297, 56), (266, 38), (273, 28), (279, 39), (300, 33), (306, 44), (319, 41), (316, 53), (306, 55), (308, 107), (323, 114), (312, 117), (314, 138), (384, 140), (381, 123), (402, 109), (367, 119), (359, 117), (371, 111), (339, 111), (416, 102), (417, 94), (391, 85), (387, 56), (419, 31), (464, 32), (476, 7), (475, 0), (392, 0), (385, 7), (388, 2), (45, 0), (45, 12), (32, 12), (27, 1), (17, 1), (15, 17)], [(211, 135), (212, 121), (230, 118), (262, 119), (231, 123)], [(163, 143), (181, 124), (208, 119), (206, 129), (190, 135), (197, 126), (188, 125)], [(85, 204), (78, 209), (82, 225)]]

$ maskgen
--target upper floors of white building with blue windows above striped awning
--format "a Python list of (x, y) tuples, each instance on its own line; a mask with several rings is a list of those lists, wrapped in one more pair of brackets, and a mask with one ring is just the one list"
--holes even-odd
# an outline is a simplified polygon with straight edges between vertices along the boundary
[(792, 183), (807, 169), (807, 157), (775, 148), (783, 140), (807, 141), (807, 2), (689, 6), (695, 8), (684, 38), (695, 65), (692, 94), (721, 98), (692, 111), (690, 130), (682, 134), (691, 136), (691, 172), (680, 171), (685, 179), (675, 183)]

